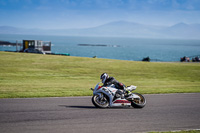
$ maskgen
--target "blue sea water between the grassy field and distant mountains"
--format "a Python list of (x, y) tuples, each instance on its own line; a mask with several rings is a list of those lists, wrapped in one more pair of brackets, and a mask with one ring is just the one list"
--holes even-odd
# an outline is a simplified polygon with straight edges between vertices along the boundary
[[(145, 57), (150, 57), (154, 61), (180, 61), (183, 56), (200, 55), (200, 40), (5, 34), (0, 34), (0, 40), (51, 41), (53, 44), (51, 51), (54, 53), (118, 60), (141, 61)], [(15, 51), (16, 47), (0, 46), (0, 51), (5, 50)]]

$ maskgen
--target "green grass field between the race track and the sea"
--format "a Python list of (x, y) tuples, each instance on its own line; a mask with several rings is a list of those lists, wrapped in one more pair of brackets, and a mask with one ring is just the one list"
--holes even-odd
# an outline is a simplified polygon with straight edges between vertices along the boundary
[(200, 92), (200, 63), (0, 52), (0, 98), (92, 95), (103, 72), (142, 94)]

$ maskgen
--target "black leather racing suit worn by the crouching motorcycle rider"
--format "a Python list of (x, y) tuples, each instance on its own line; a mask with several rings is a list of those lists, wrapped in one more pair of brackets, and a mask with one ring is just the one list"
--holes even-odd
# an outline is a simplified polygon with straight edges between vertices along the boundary
[(108, 86), (108, 85), (111, 85), (111, 84), (114, 84), (115, 87), (116, 87), (117, 89), (124, 90), (125, 85), (122, 84), (122, 83), (120, 83), (120, 82), (118, 82), (118, 81), (117, 81), (115, 78), (113, 78), (113, 77), (109, 77), (109, 78), (105, 81), (105, 83), (103, 84), (103, 86)]

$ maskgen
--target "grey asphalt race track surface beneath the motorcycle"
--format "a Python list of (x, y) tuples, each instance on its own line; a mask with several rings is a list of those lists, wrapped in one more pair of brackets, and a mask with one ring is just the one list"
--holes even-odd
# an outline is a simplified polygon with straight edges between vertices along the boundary
[(0, 99), (0, 133), (135, 133), (200, 129), (200, 93), (144, 95), (143, 109), (97, 109), (91, 97)]

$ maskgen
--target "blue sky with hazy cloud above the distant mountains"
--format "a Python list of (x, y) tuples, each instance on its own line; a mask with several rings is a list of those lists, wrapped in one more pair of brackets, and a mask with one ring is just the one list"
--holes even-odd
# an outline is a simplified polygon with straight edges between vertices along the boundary
[(200, 23), (200, 0), (0, 0), (0, 26), (74, 29), (113, 21)]

